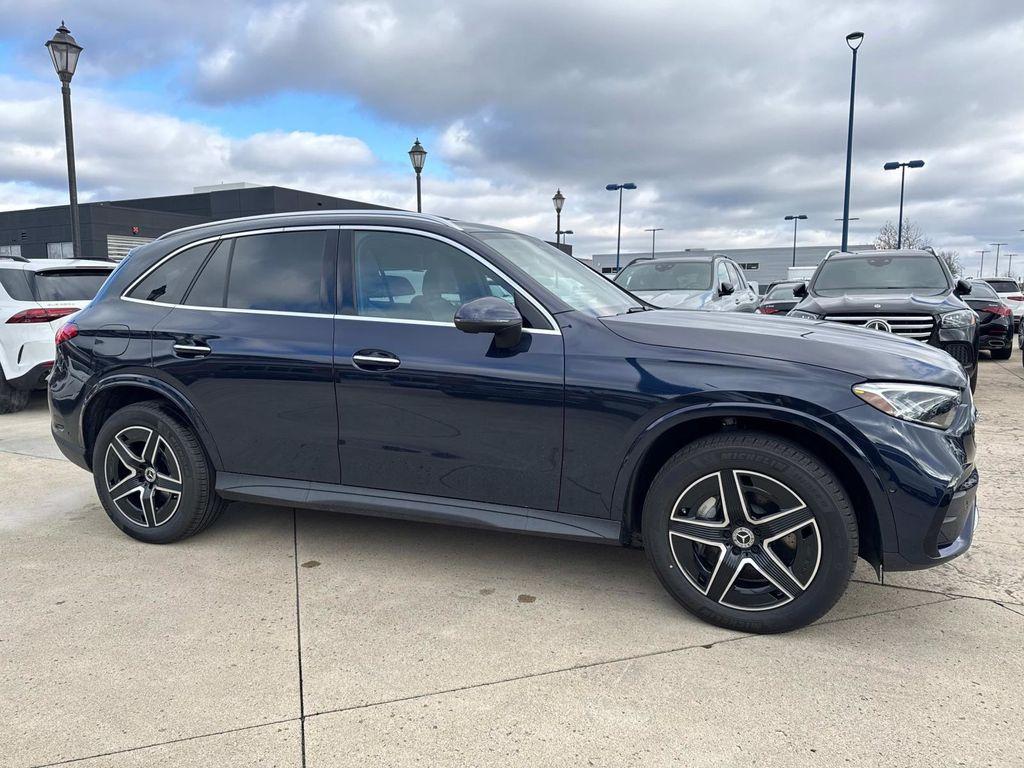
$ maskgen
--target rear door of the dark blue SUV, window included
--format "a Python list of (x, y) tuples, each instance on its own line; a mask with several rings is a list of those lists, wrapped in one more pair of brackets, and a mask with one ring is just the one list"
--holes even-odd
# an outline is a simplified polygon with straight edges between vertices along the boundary
[[(199, 410), (228, 472), (339, 481), (337, 237), (336, 227), (242, 232), (181, 254), (186, 270), (204, 260), (154, 329), (153, 360)], [(163, 290), (140, 289), (143, 300)]]

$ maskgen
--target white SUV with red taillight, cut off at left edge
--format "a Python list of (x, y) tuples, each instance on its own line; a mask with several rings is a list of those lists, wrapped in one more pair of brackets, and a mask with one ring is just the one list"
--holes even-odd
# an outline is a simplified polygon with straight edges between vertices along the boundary
[(110, 261), (0, 258), (0, 414), (46, 384), (53, 335), (114, 270)]

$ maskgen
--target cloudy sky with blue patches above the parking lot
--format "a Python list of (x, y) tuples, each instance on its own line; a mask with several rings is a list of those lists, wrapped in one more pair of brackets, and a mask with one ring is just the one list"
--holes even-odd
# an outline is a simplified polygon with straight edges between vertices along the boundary
[(653, 226), (786, 245), (787, 213), (838, 244), (860, 30), (851, 242), (896, 218), (882, 165), (920, 158), (906, 211), (936, 247), (1024, 254), (1019, 3), (0, 0), (0, 209), (67, 199), (61, 17), (83, 200), (251, 181), (410, 207), (419, 136), (425, 210), (551, 239), (561, 187), (583, 254), (614, 250), (612, 181), (639, 186), (624, 250)]

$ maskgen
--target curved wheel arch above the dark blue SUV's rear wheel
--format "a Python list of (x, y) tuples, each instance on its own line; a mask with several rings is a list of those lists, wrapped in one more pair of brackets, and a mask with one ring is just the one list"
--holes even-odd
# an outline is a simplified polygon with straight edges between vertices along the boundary
[(163, 402), (185, 424), (196, 430), (200, 442), (215, 469), (222, 469), (220, 453), (203, 417), (182, 392), (165, 381), (140, 374), (121, 374), (103, 379), (82, 406), (80, 434), (85, 459), (92, 468), (92, 450), (103, 423), (115, 412), (135, 402)]

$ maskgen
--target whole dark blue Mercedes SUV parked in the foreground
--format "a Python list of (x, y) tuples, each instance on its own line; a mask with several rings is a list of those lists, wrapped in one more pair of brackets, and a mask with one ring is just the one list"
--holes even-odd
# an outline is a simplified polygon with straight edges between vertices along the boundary
[(653, 309), (517, 232), (325, 211), (143, 246), (57, 335), (52, 431), (163, 544), (226, 502), (643, 546), (683, 606), (778, 632), (857, 556), (977, 519), (961, 366), (830, 323)]

